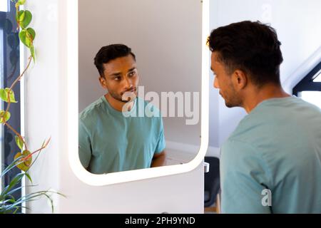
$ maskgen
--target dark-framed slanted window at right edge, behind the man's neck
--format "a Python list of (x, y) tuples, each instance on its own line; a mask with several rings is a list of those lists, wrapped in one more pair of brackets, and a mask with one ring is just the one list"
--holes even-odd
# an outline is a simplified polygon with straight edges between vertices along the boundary
[(321, 108), (321, 62), (293, 88), (293, 95)]

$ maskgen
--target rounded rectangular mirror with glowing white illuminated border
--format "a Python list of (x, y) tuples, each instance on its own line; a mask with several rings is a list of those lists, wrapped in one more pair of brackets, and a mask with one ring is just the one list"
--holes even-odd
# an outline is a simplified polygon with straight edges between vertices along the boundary
[[(74, 85), (68, 85), (68, 90), (73, 91), (69, 93), (68, 100), (73, 100), (75, 98), (74, 92), (78, 92), (78, 104), (69, 105), (68, 119), (71, 120), (75, 117), (75, 111), (72, 110), (72, 107), (78, 106), (77, 114), (80, 113), (79, 116), (82, 116), (84, 112), (88, 113), (88, 106), (91, 109), (95, 106), (93, 103), (99, 103), (104, 108), (109, 108), (108, 110), (114, 112), (113, 114), (115, 114), (115, 111), (118, 111), (117, 114), (121, 113), (113, 106), (113, 102), (108, 100), (108, 90), (101, 85), (99, 81), (101, 76), (99, 76), (98, 69), (93, 62), (96, 54), (103, 46), (114, 43), (122, 43), (128, 46), (136, 56), (135, 61), (133, 61), (131, 55), (129, 55), (130, 58), (128, 56), (121, 58), (128, 58), (132, 61), (131, 64), (135, 64), (136, 73), (134, 74), (137, 74), (139, 78), (137, 87), (129, 83), (131, 86), (128, 89), (136, 88), (137, 92), (137, 98), (133, 99), (133, 106), (130, 106), (132, 108), (130, 110), (138, 108), (136, 110), (143, 110), (144, 115), (143, 117), (123, 117), (123, 119), (128, 118), (125, 122), (132, 123), (137, 120), (137, 122), (143, 123), (141, 126), (125, 122), (122, 122), (125, 125), (116, 125), (114, 119), (103, 126), (101, 125), (102, 120), (97, 118), (91, 124), (90, 128), (94, 129), (91, 129), (91, 133), (88, 133), (87, 136), (87, 139), (91, 139), (89, 140), (89, 147), (107, 144), (106, 148), (113, 148), (112, 152), (105, 150), (103, 153), (112, 153), (113, 160), (118, 163), (115, 169), (109, 169), (108, 167), (95, 169), (91, 165), (97, 165), (98, 162), (92, 162), (95, 159), (94, 157), (87, 157), (86, 171), (83, 168), (83, 161), (79, 160), (78, 147), (75, 147), (74, 142), (77, 142), (78, 139), (72, 133), (69, 134), (72, 138), (69, 141), (71, 167), (78, 177), (82, 175), (81, 180), (91, 185), (140, 180), (187, 172), (203, 160), (208, 145), (208, 127), (204, 127), (204, 125), (208, 125), (208, 116), (206, 116), (208, 115), (208, 107), (205, 107), (203, 103), (208, 100), (209, 78), (209, 63), (202, 61), (202, 59), (209, 61), (208, 48), (205, 46), (209, 28), (204, 23), (202, 27), (202, 16), (204, 16), (202, 9), (205, 8), (205, 3), (208, 4), (207, 1), (202, 4), (195, 0), (78, 0), (68, 3), (68, 12), (70, 11), (68, 28), (74, 26), (75, 22), (78, 24), (78, 29), (68, 29), (70, 35), (68, 36), (70, 39), (68, 42), (68, 68), (70, 75), (78, 75), (76, 80), (78, 91), (77, 88), (74, 88)], [(75, 6), (78, 6), (78, 11)], [(208, 10), (209, 7), (205, 9)], [(76, 17), (78, 21), (76, 21)], [(204, 26), (206, 28), (205, 35), (203, 34)], [(76, 34), (78, 35), (78, 43), (72, 43), (71, 37), (76, 36)], [(78, 53), (76, 58), (78, 63), (74, 59), (75, 53)], [(108, 63), (106, 64), (108, 65)], [(103, 66), (106, 67), (106, 64)], [(74, 68), (75, 66), (77, 68)], [(113, 68), (113, 64), (109, 64), (109, 66)], [(117, 69), (119, 70), (119, 68)], [(130, 74), (129, 70), (133, 69), (130, 67), (123, 69), (122, 72), (125, 73), (121, 73), (121, 78), (118, 78), (118, 80), (126, 81)], [(115, 73), (106, 71), (106, 68), (104, 70), (104, 73)], [(128, 74), (126, 74), (126, 71), (128, 71)], [(205, 76), (203, 76), (204, 74)], [(113, 89), (113, 87), (109, 88)], [(117, 90), (119, 92), (117, 94), (122, 95), (126, 90), (126, 86), (121, 87)], [(115, 98), (113, 95), (111, 97)], [(140, 104), (140, 102), (144, 104), (144, 101), (147, 106), (138, 105), (136, 107), (136, 104)], [(71, 103), (73, 102), (71, 101)], [(143, 108), (140, 109), (139, 107)], [(153, 110), (159, 110), (161, 117), (151, 116), (151, 113), (155, 114)], [(92, 117), (92, 113), (90, 114), (89, 116)], [(149, 123), (146, 127), (147, 120), (152, 121), (152, 123)], [(76, 122), (78, 121), (71, 120), (68, 128), (74, 129), (75, 124), (78, 125)], [(163, 140), (165, 143), (159, 140), (161, 138), (161, 125), (163, 125)], [(128, 127), (133, 126), (135, 128), (128, 130)], [(151, 126), (156, 126), (156, 128)], [(87, 127), (85, 130), (88, 130)], [(107, 134), (108, 138), (105, 134), (104, 137), (100, 138), (100, 142), (94, 142), (93, 138), (100, 135), (102, 129), (109, 127), (112, 128)], [(140, 131), (142, 129), (144, 129), (143, 132)], [(79, 128), (79, 132), (81, 130), (83, 130), (82, 127)], [(146, 133), (146, 131), (148, 132)], [(74, 130), (71, 130), (71, 132), (74, 133)], [(95, 135), (95, 137), (92, 135)], [(128, 137), (128, 135), (131, 136)], [(200, 135), (202, 135), (202, 138)], [(77, 145), (82, 145), (82, 143), (83, 140), (81, 139)], [(113, 146), (108, 147), (111, 144)], [(145, 162), (148, 167), (138, 165), (135, 168), (137, 162), (134, 160), (139, 160), (141, 155), (126, 160), (126, 156), (121, 154), (128, 151), (133, 152), (136, 145), (140, 145), (138, 147), (144, 150), (144, 152), (137, 151), (137, 154), (148, 154), (149, 162)], [(150, 168), (155, 159), (155, 157), (153, 159), (153, 155), (163, 150), (166, 153), (165, 162), (159, 167)], [(106, 154), (106, 157), (109, 154)], [(131, 173), (131, 177), (128, 177), (129, 173)]]

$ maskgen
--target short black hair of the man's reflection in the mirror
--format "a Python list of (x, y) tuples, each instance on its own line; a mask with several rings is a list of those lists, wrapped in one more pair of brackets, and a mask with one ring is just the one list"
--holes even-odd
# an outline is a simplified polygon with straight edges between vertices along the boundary
[(131, 55), (133, 56), (134, 61), (136, 61), (135, 54), (131, 51), (131, 48), (124, 44), (111, 44), (108, 46), (103, 46), (98, 53), (96, 54), (96, 57), (94, 58), (94, 64), (96, 68), (98, 69), (99, 75), (103, 77), (103, 71), (105, 70), (103, 68), (104, 63), (108, 63), (109, 61), (112, 61), (113, 59), (125, 57)]

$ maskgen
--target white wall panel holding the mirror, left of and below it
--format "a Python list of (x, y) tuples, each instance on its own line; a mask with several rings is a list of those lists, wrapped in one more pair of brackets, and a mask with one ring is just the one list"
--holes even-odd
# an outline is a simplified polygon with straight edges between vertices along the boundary
[[(54, 188), (67, 195), (56, 198), (58, 213), (202, 213), (203, 165), (181, 175), (104, 187), (85, 185), (73, 175), (66, 127), (66, 1), (34, 0), (26, 7), (34, 14), (38, 56), (26, 76), (26, 140), (36, 150), (52, 138), (31, 170), (39, 187), (28, 192)], [(51, 212), (46, 199), (29, 207), (34, 213)]]

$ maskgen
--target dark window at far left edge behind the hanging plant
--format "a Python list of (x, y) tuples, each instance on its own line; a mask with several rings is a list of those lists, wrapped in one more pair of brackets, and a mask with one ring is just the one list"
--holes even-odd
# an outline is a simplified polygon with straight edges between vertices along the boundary
[[(16, 8), (14, 1), (0, 0), (0, 87), (9, 88), (20, 73), (19, 33), (16, 31)], [(11, 118), (8, 123), (19, 133), (21, 131), (20, 113), (20, 85), (14, 88), (18, 103), (11, 103)], [(7, 103), (0, 101), (0, 109), (5, 110)], [(14, 140), (14, 133), (9, 128), (0, 125), (0, 172), (14, 160), (19, 147)], [(20, 172), (18, 168), (11, 170), (0, 180), (0, 190), (8, 185), (10, 180)], [(20, 183), (21, 185), (21, 183)], [(21, 192), (12, 194), (15, 198), (21, 197)]]

